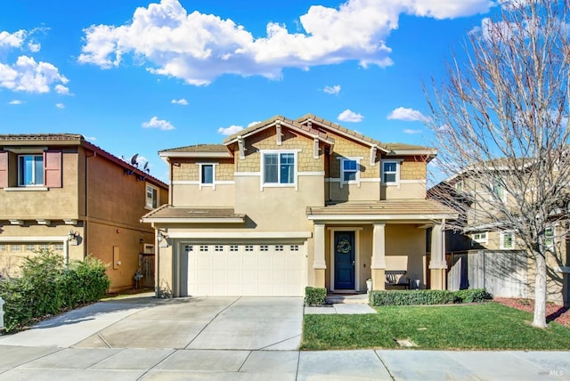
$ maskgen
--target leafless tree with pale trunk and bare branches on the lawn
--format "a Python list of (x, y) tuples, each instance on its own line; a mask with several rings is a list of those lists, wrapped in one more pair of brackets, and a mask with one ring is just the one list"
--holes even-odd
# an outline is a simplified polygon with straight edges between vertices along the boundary
[(448, 177), (430, 196), (460, 212), (454, 229), (516, 232), (535, 264), (536, 327), (546, 327), (547, 266), (559, 254), (545, 232), (559, 223), (566, 235), (570, 201), (568, 8), (569, 0), (502, 2), (468, 34), (465, 58), (452, 56), (433, 93), (425, 87)]

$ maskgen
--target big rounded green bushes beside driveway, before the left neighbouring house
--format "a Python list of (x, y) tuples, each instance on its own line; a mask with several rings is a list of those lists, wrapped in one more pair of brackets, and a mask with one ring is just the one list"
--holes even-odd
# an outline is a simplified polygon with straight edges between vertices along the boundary
[(105, 267), (90, 256), (66, 267), (61, 254), (49, 250), (24, 258), (20, 278), (0, 281), (6, 332), (106, 296)]

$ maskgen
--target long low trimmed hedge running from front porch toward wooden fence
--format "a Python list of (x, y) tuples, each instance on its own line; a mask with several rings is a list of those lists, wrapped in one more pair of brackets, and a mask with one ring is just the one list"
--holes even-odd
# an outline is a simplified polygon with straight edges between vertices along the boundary
[(491, 296), (484, 289), (447, 291), (436, 289), (371, 291), (371, 305), (430, 305), (482, 302)]

